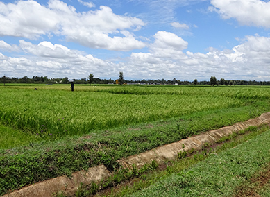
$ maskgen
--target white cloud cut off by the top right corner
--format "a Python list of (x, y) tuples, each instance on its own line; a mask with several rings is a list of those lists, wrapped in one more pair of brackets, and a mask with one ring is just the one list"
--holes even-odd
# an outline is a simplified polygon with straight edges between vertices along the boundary
[(223, 19), (235, 18), (239, 24), (270, 27), (270, 2), (260, 0), (211, 0), (210, 11)]

